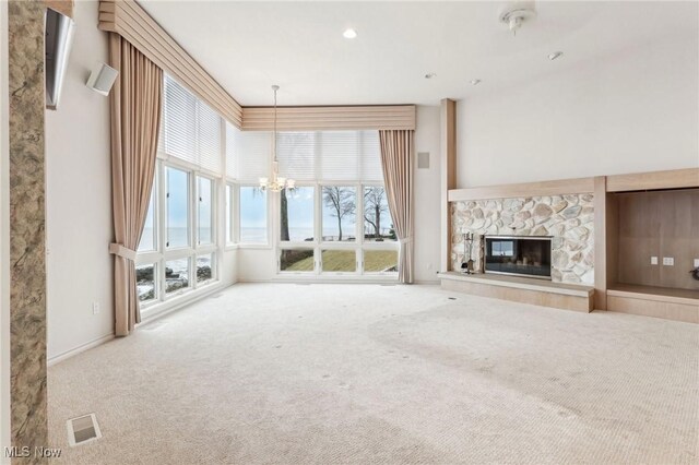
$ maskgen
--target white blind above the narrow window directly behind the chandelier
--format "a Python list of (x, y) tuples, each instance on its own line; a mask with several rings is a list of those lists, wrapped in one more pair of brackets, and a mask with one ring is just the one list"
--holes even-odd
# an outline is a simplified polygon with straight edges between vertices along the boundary
[(226, 175), (239, 181), (257, 183), (270, 176), (272, 133), (240, 131), (226, 122)]

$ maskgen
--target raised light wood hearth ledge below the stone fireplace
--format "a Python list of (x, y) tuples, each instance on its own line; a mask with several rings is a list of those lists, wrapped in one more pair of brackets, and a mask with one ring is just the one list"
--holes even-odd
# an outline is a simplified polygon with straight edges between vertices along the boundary
[(442, 289), (542, 307), (590, 312), (594, 288), (497, 274), (439, 273)]

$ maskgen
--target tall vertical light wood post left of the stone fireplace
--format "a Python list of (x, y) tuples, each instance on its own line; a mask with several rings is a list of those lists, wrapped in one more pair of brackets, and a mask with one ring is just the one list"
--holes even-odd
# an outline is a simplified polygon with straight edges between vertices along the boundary
[(452, 215), (449, 191), (457, 187), (457, 103), (445, 98), (440, 109), (440, 191), (441, 259), (440, 271), (451, 270)]

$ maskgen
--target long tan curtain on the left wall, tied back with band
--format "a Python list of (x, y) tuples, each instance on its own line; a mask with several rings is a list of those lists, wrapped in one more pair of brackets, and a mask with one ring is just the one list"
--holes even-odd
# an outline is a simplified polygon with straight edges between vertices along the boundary
[(119, 76), (111, 90), (111, 189), (115, 243), (115, 333), (126, 336), (141, 321), (135, 250), (149, 208), (161, 127), (163, 71), (117, 34), (109, 60)]

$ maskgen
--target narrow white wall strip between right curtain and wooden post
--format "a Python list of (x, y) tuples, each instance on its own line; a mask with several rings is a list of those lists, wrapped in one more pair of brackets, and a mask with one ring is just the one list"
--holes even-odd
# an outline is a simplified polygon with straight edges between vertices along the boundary
[(429, 153), (429, 168), (415, 160), (415, 282), (437, 283), (440, 248), (439, 107), (417, 107), (415, 156)]

